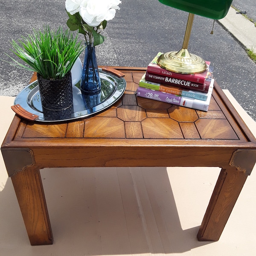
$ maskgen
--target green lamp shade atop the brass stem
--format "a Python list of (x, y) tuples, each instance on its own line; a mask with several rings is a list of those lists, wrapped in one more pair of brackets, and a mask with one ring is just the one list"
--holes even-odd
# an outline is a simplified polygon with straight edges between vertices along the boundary
[(227, 15), (233, 0), (159, 0), (167, 6), (214, 20)]

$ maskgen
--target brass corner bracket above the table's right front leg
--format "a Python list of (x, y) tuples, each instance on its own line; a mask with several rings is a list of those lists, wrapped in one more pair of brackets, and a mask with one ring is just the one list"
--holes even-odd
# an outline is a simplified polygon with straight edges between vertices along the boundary
[(238, 171), (250, 175), (256, 163), (256, 149), (238, 149), (231, 159), (230, 166), (236, 167)]

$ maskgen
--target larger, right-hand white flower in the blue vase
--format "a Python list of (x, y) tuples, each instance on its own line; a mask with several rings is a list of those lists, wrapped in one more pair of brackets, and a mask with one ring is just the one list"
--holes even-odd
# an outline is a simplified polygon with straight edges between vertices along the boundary
[(115, 17), (119, 3), (119, 0), (83, 0), (79, 14), (89, 26), (99, 26), (103, 20)]

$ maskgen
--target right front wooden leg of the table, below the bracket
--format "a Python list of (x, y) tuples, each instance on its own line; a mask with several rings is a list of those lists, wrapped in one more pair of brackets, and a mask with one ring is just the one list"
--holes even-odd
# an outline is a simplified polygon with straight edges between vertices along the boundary
[(221, 169), (198, 231), (199, 241), (218, 241), (246, 179), (237, 169)]

